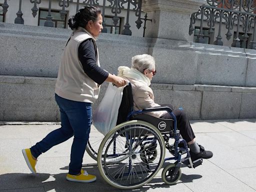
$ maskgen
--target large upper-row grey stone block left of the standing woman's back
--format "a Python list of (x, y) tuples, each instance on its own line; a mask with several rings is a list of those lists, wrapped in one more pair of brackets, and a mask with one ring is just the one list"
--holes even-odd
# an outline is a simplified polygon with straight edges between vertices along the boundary
[(56, 77), (65, 40), (1, 34), (0, 74)]

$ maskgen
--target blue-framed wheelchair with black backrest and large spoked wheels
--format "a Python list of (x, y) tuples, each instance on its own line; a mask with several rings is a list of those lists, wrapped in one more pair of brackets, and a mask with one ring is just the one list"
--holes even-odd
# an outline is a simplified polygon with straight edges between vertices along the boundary
[[(147, 114), (159, 110), (166, 110), (172, 119)], [(133, 111), (131, 84), (123, 89), (116, 124), (105, 136), (97, 138), (99, 146), (95, 147), (95, 142), (89, 139), (86, 148), (93, 159), (97, 158), (103, 179), (116, 188), (134, 189), (144, 185), (169, 160), (175, 162), (163, 168), (161, 177), (166, 184), (175, 184), (181, 177), (182, 163), (189, 168), (202, 163), (201, 158), (191, 160), (186, 141), (179, 137), (171, 108), (160, 106)], [(165, 158), (166, 149), (173, 157)], [(182, 154), (186, 156), (181, 158)]]

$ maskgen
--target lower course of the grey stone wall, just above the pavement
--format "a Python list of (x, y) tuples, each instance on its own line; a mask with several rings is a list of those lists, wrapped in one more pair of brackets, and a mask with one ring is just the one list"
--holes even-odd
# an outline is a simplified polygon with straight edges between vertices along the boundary
[[(0, 120), (59, 121), (54, 100), (54, 77), (0, 75)], [(103, 83), (98, 105), (107, 83)], [(151, 88), (155, 102), (182, 107), (189, 119), (256, 117), (256, 87), (157, 84)]]

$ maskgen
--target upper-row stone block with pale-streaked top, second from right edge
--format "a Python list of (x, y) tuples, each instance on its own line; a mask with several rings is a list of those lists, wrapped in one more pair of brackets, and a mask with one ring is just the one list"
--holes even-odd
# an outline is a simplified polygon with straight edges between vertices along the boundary
[(194, 42), (191, 48), (198, 53), (196, 84), (245, 85), (244, 49)]

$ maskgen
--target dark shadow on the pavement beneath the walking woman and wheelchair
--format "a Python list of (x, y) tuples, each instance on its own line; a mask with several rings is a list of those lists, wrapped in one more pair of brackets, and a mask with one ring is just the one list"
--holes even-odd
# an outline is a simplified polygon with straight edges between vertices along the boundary
[[(6, 173), (0, 175), (0, 190), (11, 190), (19, 192), (44, 192), (54, 190), (56, 192), (65, 191), (147, 191), (154, 188), (170, 188), (170, 185), (163, 183), (159, 177), (153, 178), (149, 183), (133, 190), (121, 190), (107, 184), (99, 174), (96, 164), (83, 164), (82, 166), (89, 173), (95, 174), (97, 180), (91, 183), (71, 182), (65, 179), (66, 173)], [(67, 170), (68, 166), (60, 168)], [(201, 178), (201, 175), (185, 175), (182, 173), (182, 182), (192, 182), (194, 179)], [(178, 181), (177, 184), (179, 184)], [(12, 191), (12, 190), (11, 190)]]

